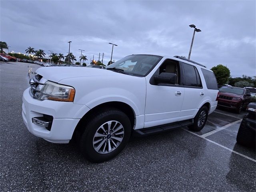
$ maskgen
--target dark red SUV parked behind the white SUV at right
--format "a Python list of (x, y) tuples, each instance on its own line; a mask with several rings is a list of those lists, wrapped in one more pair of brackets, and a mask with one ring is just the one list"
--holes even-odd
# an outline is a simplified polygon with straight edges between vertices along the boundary
[(240, 87), (223, 86), (218, 93), (218, 106), (230, 108), (240, 113), (251, 101), (250, 91)]

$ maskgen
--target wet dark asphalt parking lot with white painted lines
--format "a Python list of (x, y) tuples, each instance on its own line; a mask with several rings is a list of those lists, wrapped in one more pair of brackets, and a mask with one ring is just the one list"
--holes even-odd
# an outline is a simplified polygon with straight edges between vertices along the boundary
[[(88, 162), (76, 144), (54, 144), (28, 132), (22, 94), (28, 70), (0, 62), (1, 191), (254, 191), (255, 149), (236, 143), (245, 114), (217, 109), (200, 132), (187, 127), (132, 137), (116, 158)], [(49, 68), (50, 69), (50, 68)]]

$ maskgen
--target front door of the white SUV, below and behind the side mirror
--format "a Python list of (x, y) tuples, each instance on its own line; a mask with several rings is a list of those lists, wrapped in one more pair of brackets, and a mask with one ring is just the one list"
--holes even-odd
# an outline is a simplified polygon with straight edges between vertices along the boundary
[[(175, 73), (176, 84), (157, 83), (154, 77), (162, 72)], [(179, 120), (184, 98), (184, 88), (179, 83), (180, 66), (175, 60), (165, 60), (153, 76), (146, 76), (145, 128)]]

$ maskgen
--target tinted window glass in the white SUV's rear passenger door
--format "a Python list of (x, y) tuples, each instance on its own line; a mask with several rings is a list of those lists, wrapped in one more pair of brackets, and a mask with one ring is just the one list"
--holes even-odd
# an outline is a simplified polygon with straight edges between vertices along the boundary
[(189, 64), (182, 63), (184, 70), (184, 85), (202, 87), (197, 69)]

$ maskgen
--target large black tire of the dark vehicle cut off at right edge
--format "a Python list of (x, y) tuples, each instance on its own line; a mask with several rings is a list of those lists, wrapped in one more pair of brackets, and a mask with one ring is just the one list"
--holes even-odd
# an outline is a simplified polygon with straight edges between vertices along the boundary
[(246, 114), (240, 124), (238, 133), (236, 136), (236, 142), (246, 147), (254, 147), (256, 145), (255, 131), (246, 126), (245, 118), (249, 118), (249, 114)]

